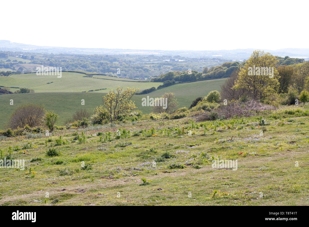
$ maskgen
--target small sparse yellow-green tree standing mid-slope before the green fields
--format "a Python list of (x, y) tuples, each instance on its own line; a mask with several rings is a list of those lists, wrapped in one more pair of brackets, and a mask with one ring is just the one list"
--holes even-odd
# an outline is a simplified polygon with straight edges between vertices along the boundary
[(127, 87), (127, 89), (117, 87), (115, 91), (111, 90), (103, 96), (103, 103), (109, 113), (111, 123), (117, 120), (119, 114), (129, 113), (137, 108), (131, 98), (138, 90), (134, 87)]

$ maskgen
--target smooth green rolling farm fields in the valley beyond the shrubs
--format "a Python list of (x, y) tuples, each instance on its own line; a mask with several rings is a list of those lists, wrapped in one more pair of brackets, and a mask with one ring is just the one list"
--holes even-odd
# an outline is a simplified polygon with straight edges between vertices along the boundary
[[(102, 96), (110, 89), (121, 87), (135, 87), (144, 90), (152, 86), (158, 87), (162, 83), (154, 82), (124, 82), (116, 80), (104, 80), (83, 77), (84, 74), (62, 73), (62, 78), (57, 76), (37, 76), (36, 74), (11, 75), (10, 77), (1, 77), (1, 86), (27, 87), (34, 89), (36, 93), (28, 94), (10, 94), (0, 95), (0, 129), (9, 120), (11, 113), (20, 105), (26, 103), (37, 103), (44, 105), (49, 111), (55, 111), (59, 115), (58, 125), (62, 125), (67, 118), (71, 118), (77, 109), (87, 109), (93, 111), (97, 106), (103, 104)], [(53, 77), (53, 78), (51, 78)], [(114, 79), (109, 76), (95, 76), (99, 78)], [(121, 80), (122, 78), (115, 78)], [(128, 79), (125, 79), (128, 80)], [(47, 82), (52, 82), (46, 84)], [(132, 80), (130, 80), (132, 81)], [(134, 95), (132, 100), (143, 114), (150, 113), (151, 107), (142, 107), (142, 98), (160, 97), (165, 92), (174, 92), (179, 103), (179, 107), (189, 107), (194, 99), (199, 96), (205, 96), (212, 90), (220, 90), (220, 85), (224, 83), (223, 79), (206, 80), (191, 83), (181, 83), (165, 87), (149, 94)], [(100, 88), (107, 88), (96, 92), (81, 92)], [(11, 89), (15, 91), (17, 89)], [(79, 91), (79, 92), (78, 92)], [(10, 105), (10, 99), (14, 100), (14, 105)], [(81, 99), (85, 100), (85, 105), (81, 105)]]

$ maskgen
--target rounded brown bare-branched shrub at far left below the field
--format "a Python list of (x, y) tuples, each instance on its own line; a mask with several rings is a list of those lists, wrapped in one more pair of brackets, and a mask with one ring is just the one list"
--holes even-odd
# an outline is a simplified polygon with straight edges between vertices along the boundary
[(45, 110), (43, 106), (37, 104), (26, 104), (17, 107), (9, 120), (9, 127), (12, 129), (23, 128), (27, 124), (36, 127), (42, 124)]

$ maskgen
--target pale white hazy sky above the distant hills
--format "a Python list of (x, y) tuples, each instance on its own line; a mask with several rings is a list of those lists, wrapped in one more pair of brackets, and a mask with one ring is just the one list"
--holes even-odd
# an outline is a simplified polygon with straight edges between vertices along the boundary
[(2, 1), (0, 40), (161, 50), (309, 48), (307, 1)]

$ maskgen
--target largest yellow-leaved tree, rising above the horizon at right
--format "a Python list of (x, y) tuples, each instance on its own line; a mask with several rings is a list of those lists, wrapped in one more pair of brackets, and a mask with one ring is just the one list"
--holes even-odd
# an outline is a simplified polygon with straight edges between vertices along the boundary
[(279, 87), (277, 63), (276, 57), (270, 53), (253, 51), (244, 67), (240, 69), (233, 88), (247, 91), (252, 99), (265, 99)]

